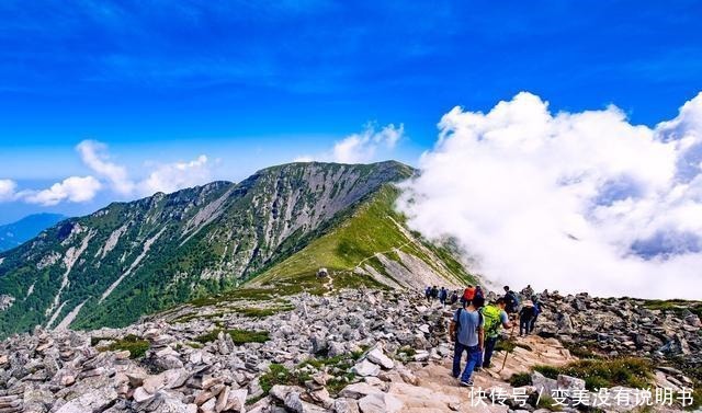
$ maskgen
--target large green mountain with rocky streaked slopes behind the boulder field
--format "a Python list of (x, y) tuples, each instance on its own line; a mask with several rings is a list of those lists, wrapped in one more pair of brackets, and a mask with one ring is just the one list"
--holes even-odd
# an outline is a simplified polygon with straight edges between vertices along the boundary
[[(469, 277), (449, 249), (393, 210), (407, 165), (293, 163), (67, 219), (0, 253), (0, 336), (45, 328), (126, 325), (252, 277), (269, 288), (415, 287)], [(341, 276), (343, 275), (343, 276)]]

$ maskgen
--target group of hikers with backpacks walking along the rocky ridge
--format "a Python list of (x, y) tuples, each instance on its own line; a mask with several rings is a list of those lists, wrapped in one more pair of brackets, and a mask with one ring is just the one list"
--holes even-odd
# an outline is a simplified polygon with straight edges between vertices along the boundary
[[(519, 319), (519, 335), (528, 335), (534, 331), (536, 319), (542, 311), (539, 296), (531, 286), (521, 290), (521, 295), (505, 286), (505, 295), (486, 305), (485, 292), (479, 286), (468, 286), (458, 296), (458, 291), (449, 291), (441, 287), (427, 287), (427, 300), (439, 300), (442, 306), (446, 302), (461, 305), (454, 312), (449, 334), (455, 343), (453, 355), (454, 378), (460, 379), (461, 386), (473, 386), (473, 371), (491, 366), (492, 353), (500, 337), (502, 329), (513, 329), (512, 320)], [(525, 297), (524, 301), (520, 299)], [(513, 331), (513, 330), (512, 330)], [(467, 353), (466, 366), (461, 372), (463, 353)]]

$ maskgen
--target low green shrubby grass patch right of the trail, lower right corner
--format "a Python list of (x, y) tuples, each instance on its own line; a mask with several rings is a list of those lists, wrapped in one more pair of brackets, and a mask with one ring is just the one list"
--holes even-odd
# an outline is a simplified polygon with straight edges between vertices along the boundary
[(545, 377), (555, 379), (558, 375), (573, 376), (585, 380), (588, 390), (624, 386), (644, 389), (649, 386), (653, 364), (644, 358), (624, 357), (615, 359), (584, 359), (565, 366), (535, 366)]

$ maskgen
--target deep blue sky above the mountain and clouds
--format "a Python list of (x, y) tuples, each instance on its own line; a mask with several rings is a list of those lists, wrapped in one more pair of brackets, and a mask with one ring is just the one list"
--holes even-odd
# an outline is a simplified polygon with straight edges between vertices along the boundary
[[(389, 124), (401, 137), (373, 158), (416, 163), (452, 107), (520, 91), (653, 126), (702, 89), (700, 15), (689, 0), (3, 1), (0, 180), (94, 175), (76, 150), (93, 139), (135, 182), (201, 154), (236, 181)], [(0, 223), (134, 196), (5, 199)]]

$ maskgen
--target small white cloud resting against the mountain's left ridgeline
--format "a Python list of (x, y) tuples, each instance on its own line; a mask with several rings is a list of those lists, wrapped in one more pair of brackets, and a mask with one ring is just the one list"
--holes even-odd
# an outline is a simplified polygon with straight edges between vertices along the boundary
[(185, 187), (201, 185), (212, 181), (207, 157), (201, 154), (190, 162), (176, 162), (159, 165), (149, 176), (138, 184), (143, 194), (174, 192)]

